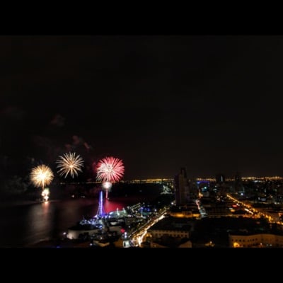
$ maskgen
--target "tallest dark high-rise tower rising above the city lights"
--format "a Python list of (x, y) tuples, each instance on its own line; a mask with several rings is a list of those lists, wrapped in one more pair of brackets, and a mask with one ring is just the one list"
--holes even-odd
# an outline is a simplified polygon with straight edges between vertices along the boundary
[(175, 204), (184, 205), (187, 203), (187, 196), (189, 195), (189, 182), (187, 180), (187, 172), (184, 167), (180, 169), (180, 173), (175, 175)]

